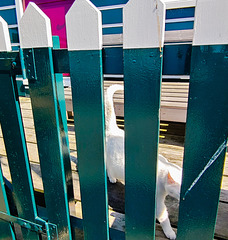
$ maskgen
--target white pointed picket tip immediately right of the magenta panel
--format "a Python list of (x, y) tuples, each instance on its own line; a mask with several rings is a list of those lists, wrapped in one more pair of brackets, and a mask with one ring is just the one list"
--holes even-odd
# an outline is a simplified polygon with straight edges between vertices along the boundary
[(101, 12), (88, 0), (76, 0), (66, 15), (68, 50), (102, 49)]

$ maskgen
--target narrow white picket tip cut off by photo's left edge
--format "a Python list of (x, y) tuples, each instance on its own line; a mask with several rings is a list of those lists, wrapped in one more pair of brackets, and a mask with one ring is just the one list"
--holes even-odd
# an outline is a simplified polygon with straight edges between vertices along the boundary
[(0, 51), (1, 52), (11, 51), (8, 24), (1, 16), (0, 16)]

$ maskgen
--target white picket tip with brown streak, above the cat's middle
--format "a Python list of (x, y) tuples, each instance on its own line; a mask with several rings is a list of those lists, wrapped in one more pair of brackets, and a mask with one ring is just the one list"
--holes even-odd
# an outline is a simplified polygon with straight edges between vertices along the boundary
[(160, 0), (130, 0), (123, 9), (123, 48), (164, 45), (165, 4)]

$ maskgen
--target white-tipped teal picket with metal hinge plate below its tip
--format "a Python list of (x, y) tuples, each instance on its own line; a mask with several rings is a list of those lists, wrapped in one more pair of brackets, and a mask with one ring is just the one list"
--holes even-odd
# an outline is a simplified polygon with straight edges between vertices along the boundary
[(57, 225), (60, 239), (71, 239), (50, 20), (34, 3), (30, 3), (19, 22), (19, 32), (29, 80), (48, 220)]

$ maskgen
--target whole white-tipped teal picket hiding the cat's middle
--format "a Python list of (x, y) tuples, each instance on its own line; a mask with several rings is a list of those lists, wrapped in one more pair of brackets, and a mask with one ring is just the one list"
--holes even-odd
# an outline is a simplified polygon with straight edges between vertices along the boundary
[(155, 238), (165, 6), (130, 0), (123, 10), (126, 239)]

